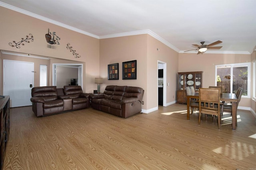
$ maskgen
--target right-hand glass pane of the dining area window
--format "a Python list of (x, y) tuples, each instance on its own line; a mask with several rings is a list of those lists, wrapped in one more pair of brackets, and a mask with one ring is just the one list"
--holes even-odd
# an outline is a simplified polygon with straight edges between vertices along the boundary
[(233, 93), (236, 93), (239, 87), (243, 88), (242, 95), (247, 96), (248, 87), (248, 67), (247, 66), (234, 66), (233, 67)]

